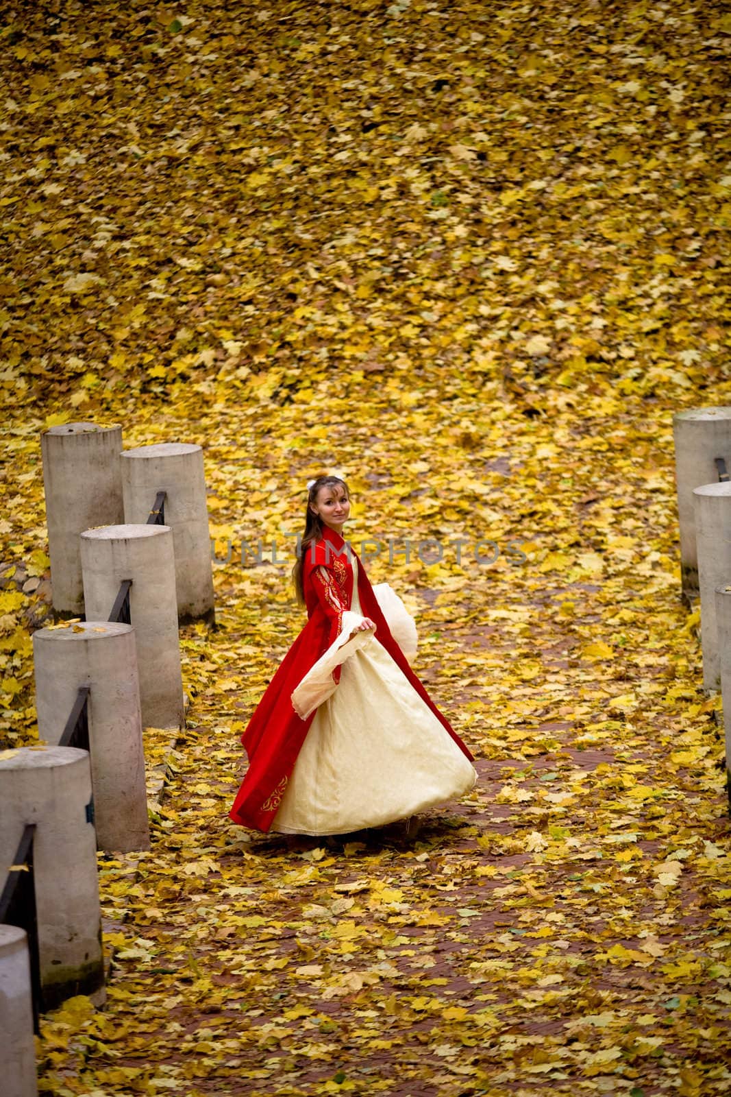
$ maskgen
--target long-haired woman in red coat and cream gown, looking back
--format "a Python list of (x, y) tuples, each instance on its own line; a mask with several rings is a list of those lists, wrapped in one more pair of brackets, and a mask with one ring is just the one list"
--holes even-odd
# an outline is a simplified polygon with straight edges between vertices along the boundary
[(342, 536), (346, 484), (308, 485), (294, 568), (308, 621), (241, 738), (249, 769), (230, 811), (242, 826), (334, 835), (382, 826), (472, 788), (472, 756), (391, 635)]

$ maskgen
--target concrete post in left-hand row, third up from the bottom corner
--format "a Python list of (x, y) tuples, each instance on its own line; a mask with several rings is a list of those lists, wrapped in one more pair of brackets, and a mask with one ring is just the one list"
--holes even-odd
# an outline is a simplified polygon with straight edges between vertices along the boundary
[(38, 738), (55, 746), (80, 686), (89, 686), (89, 747), (99, 849), (149, 849), (135, 632), (87, 621), (33, 633)]

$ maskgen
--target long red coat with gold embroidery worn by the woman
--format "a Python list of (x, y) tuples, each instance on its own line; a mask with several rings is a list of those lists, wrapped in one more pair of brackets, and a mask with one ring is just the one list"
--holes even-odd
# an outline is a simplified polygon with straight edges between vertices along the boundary
[[(359, 557), (353, 548), (350, 552), (358, 563), (361, 612), (375, 622), (376, 640), (471, 761), (471, 754), (432, 703), (391, 636)], [(305, 553), (302, 583), (307, 624), (285, 655), (241, 736), (249, 756), (249, 769), (229, 815), (235, 823), (259, 830), (269, 830), (272, 826), (297, 755), (315, 719), (312, 712), (307, 720), (300, 720), (294, 710), (292, 693), (340, 635), (343, 612), (351, 607), (353, 566), (346, 555), (344, 540), (327, 525), (322, 540), (310, 545)], [(338, 680), (340, 667), (334, 676)]]

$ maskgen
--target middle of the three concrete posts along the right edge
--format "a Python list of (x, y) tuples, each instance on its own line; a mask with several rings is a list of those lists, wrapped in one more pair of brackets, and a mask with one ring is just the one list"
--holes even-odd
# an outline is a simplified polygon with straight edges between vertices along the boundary
[(704, 688), (711, 690), (719, 689), (721, 685), (716, 588), (731, 583), (731, 483), (704, 484), (693, 489), (693, 497), (698, 550)]

